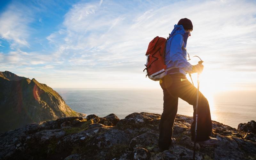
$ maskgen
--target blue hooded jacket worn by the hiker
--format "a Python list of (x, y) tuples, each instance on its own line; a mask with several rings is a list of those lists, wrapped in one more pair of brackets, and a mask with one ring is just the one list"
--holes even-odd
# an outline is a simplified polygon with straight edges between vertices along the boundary
[(187, 72), (192, 72), (192, 65), (187, 61), (187, 44), (183, 40), (184, 33), (185, 30), (183, 26), (175, 24), (174, 29), (169, 36), (170, 38), (166, 42), (164, 57), (165, 65), (167, 68), (179, 68), (179, 72), (173, 71), (168, 74), (182, 73), (186, 76)]

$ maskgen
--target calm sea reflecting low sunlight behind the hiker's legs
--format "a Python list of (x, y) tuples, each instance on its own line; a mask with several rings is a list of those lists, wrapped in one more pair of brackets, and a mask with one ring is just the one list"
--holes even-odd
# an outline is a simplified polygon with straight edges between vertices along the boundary
[[(123, 119), (133, 112), (162, 114), (162, 89), (64, 89), (55, 88), (76, 112), (103, 117), (111, 113)], [(212, 120), (237, 128), (256, 120), (256, 92), (229, 91), (206, 97)], [(193, 116), (193, 106), (179, 99), (178, 114)]]

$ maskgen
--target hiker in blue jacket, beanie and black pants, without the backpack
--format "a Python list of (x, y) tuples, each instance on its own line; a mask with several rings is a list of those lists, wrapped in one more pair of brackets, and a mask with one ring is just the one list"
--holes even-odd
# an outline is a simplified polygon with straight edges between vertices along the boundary
[[(195, 139), (196, 124), (196, 98), (197, 88), (186, 78), (187, 73), (201, 73), (204, 66), (202, 64), (191, 65), (187, 61), (187, 40), (191, 36), (193, 25), (187, 18), (180, 19), (177, 25), (174, 25), (165, 47), (165, 65), (164, 78), (159, 83), (164, 92), (164, 110), (159, 124), (158, 145), (162, 150), (168, 150), (172, 144), (173, 123), (178, 110), (178, 98), (187, 101), (194, 108), (194, 121), (191, 125), (191, 138)], [(198, 99), (198, 120), (196, 142), (212, 145), (217, 143), (212, 135), (212, 120), (210, 107), (207, 99), (199, 92)]]

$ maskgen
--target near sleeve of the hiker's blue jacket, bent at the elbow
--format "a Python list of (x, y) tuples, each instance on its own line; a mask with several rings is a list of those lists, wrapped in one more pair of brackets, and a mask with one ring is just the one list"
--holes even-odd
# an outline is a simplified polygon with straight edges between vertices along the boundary
[(172, 37), (170, 48), (170, 60), (177, 68), (182, 68), (185, 72), (192, 72), (192, 65), (182, 56), (183, 38), (180, 34)]

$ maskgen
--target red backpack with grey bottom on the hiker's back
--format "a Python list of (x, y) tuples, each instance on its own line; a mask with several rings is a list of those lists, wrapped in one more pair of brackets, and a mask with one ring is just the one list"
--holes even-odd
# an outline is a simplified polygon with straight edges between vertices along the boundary
[(156, 36), (149, 44), (146, 52), (147, 63), (145, 64), (147, 70), (146, 77), (159, 81), (165, 75), (166, 65), (164, 63), (165, 45), (167, 39)]

